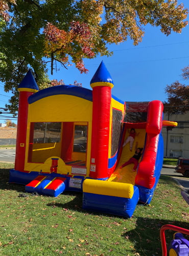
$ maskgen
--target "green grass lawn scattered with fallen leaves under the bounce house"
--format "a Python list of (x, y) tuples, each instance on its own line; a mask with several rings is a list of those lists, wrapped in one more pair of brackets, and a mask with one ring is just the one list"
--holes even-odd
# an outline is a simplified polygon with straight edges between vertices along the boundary
[[(189, 229), (188, 205), (171, 177), (161, 176), (151, 205), (137, 205), (126, 219), (83, 210), (82, 193), (26, 194), (8, 183), (12, 167), (0, 163), (0, 255), (154, 256), (162, 225)], [(173, 233), (166, 231), (168, 243)]]

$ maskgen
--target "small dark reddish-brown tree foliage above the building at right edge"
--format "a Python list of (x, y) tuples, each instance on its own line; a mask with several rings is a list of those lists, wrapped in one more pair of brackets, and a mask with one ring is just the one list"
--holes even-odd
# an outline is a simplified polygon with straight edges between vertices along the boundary
[[(182, 77), (189, 80), (189, 66), (182, 69)], [(165, 89), (168, 99), (164, 102), (164, 110), (173, 114), (189, 111), (189, 86), (179, 81), (168, 85)]]

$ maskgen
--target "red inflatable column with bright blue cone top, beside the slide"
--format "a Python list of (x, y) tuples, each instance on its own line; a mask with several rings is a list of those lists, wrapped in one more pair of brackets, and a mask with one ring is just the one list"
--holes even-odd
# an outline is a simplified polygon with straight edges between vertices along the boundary
[(103, 62), (90, 82), (92, 87), (92, 139), (90, 177), (108, 177), (108, 150), (112, 78)]

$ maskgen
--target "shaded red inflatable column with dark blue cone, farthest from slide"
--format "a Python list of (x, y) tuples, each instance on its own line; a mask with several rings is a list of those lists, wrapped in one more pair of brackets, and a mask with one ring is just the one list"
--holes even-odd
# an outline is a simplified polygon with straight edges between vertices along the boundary
[(39, 89), (31, 71), (19, 84), (18, 122), (16, 137), (15, 170), (23, 171), (25, 167), (26, 136), (28, 124), (28, 98)]

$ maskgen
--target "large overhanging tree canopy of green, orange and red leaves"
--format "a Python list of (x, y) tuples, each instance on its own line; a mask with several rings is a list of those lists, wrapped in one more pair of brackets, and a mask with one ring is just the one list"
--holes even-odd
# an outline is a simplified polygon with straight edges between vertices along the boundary
[[(177, 0), (10, 0), (0, 5), (0, 79), (11, 91), (9, 110), (17, 109), (17, 86), (33, 70), (39, 87), (50, 86), (59, 62), (88, 70), (84, 58), (109, 56), (108, 44), (128, 38), (137, 45), (147, 24), (169, 35), (187, 25), (187, 9)], [(6, 16), (9, 10), (9, 17)]]

